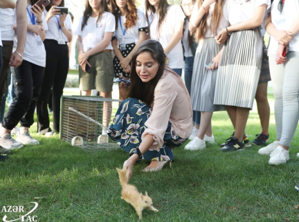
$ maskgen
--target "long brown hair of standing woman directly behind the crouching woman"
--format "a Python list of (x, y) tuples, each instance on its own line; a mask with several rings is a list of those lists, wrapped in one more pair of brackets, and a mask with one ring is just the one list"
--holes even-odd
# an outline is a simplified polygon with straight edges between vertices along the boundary
[[(151, 12), (152, 15), (154, 15), (154, 13), (157, 13), (159, 16), (159, 20), (158, 20), (158, 36), (161, 35), (161, 26), (163, 24), (163, 21), (167, 15), (167, 7), (170, 6), (169, 3), (167, 3), (167, 0), (160, 0), (158, 3), (158, 12), (156, 12), (156, 8), (154, 8), (154, 6), (152, 6), (149, 3), (149, 0), (145, 1), (145, 17), (147, 19), (147, 24), (149, 24), (149, 17), (147, 12)], [(150, 27), (150, 26), (149, 26)], [(149, 30), (148, 30), (149, 33)]]

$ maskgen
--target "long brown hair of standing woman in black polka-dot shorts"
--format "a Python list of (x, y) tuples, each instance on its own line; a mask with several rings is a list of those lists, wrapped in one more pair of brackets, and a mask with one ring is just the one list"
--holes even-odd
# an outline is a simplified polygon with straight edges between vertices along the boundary
[[(120, 9), (118, 8), (116, 4), (116, 0), (110, 0), (110, 8), (111, 13), (116, 18), (116, 29), (118, 28), (118, 12)], [(126, 30), (128, 28), (132, 28), (133, 26), (136, 26), (137, 21), (137, 8), (134, 0), (127, 0), (127, 15), (126, 15), (126, 21), (123, 26), (125, 26)]]

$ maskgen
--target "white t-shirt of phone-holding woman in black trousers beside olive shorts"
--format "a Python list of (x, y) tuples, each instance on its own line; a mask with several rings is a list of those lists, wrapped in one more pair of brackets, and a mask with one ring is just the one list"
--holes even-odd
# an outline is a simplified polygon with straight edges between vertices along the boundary
[[(44, 16), (46, 17), (46, 15), (48, 14), (48, 12), (46, 10), (44, 10)], [(58, 21), (57, 19), (59, 19), (59, 15), (56, 15), (55, 17), (52, 17), (49, 21), (48, 21), (48, 30), (46, 31), (46, 39), (53, 39), (58, 41), (58, 39), (60, 39), (60, 35), (62, 35), (62, 37), (64, 38), (64, 41), (69, 42), (69, 40), (67, 39), (66, 35), (64, 35), (64, 33), (60, 34), (60, 29), (58, 26)], [(64, 26), (68, 29), (71, 30), (72, 29), (72, 23), (71, 23), (71, 16), (67, 15), (66, 16), (66, 20), (64, 21)]]

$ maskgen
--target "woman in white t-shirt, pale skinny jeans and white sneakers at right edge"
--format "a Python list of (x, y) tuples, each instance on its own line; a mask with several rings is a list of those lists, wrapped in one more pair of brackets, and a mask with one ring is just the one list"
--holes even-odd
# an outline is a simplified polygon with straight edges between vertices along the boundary
[(276, 140), (258, 151), (269, 164), (289, 160), (289, 147), (299, 120), (299, 2), (274, 0), (266, 20), (271, 35), (268, 55), (275, 99)]

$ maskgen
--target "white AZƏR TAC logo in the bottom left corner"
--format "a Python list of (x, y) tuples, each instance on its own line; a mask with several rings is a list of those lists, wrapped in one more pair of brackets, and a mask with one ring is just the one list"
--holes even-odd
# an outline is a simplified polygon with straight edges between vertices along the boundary
[[(32, 204), (34, 204), (34, 207), (31, 209)], [(3, 206), (1, 212), (6, 213), (3, 216), (2, 221), (3, 222), (12, 222), (12, 221), (31, 221), (35, 222), (37, 221), (37, 216), (30, 215), (33, 211), (35, 211), (38, 207), (38, 203), (36, 202), (30, 202), (26, 205), (25, 209), (24, 206)], [(31, 210), (30, 210), (31, 209)], [(28, 211), (29, 210), (29, 211)], [(28, 211), (28, 213), (26, 213)], [(7, 216), (8, 214), (8, 216)], [(23, 215), (24, 214), (24, 215)]]

